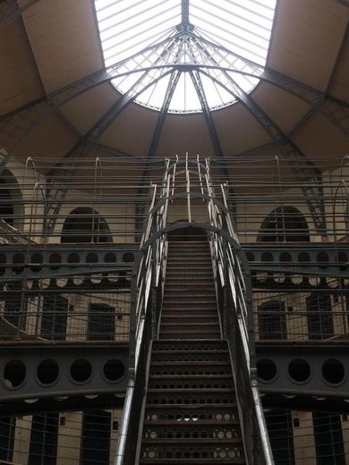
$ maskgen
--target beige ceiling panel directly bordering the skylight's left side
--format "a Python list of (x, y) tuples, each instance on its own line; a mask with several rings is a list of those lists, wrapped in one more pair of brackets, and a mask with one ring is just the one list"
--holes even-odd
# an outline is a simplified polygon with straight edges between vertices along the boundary
[(103, 66), (92, 0), (41, 0), (23, 17), (48, 93)]

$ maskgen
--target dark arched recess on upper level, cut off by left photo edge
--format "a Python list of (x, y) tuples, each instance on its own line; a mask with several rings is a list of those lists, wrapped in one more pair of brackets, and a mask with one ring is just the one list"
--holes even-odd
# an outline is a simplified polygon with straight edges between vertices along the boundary
[(13, 173), (4, 168), (0, 178), (0, 218), (17, 229), (23, 217), (21, 188)]

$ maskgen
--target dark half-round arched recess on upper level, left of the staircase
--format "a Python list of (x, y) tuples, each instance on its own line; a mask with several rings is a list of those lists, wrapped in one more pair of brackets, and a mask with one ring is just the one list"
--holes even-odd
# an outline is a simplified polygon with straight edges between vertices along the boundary
[(112, 242), (106, 220), (93, 208), (75, 208), (64, 221), (61, 243), (81, 242)]

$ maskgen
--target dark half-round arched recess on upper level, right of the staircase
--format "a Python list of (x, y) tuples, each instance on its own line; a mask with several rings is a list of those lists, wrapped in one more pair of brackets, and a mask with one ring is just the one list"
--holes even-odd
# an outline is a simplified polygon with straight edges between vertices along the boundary
[(310, 242), (309, 227), (302, 213), (294, 207), (277, 207), (264, 219), (257, 241)]

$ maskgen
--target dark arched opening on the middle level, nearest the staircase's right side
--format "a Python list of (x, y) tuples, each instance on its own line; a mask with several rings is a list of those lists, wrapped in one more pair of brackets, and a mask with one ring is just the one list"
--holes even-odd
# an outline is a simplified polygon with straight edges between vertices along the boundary
[(286, 339), (285, 302), (268, 300), (258, 308), (258, 327), (260, 341), (267, 339)]

